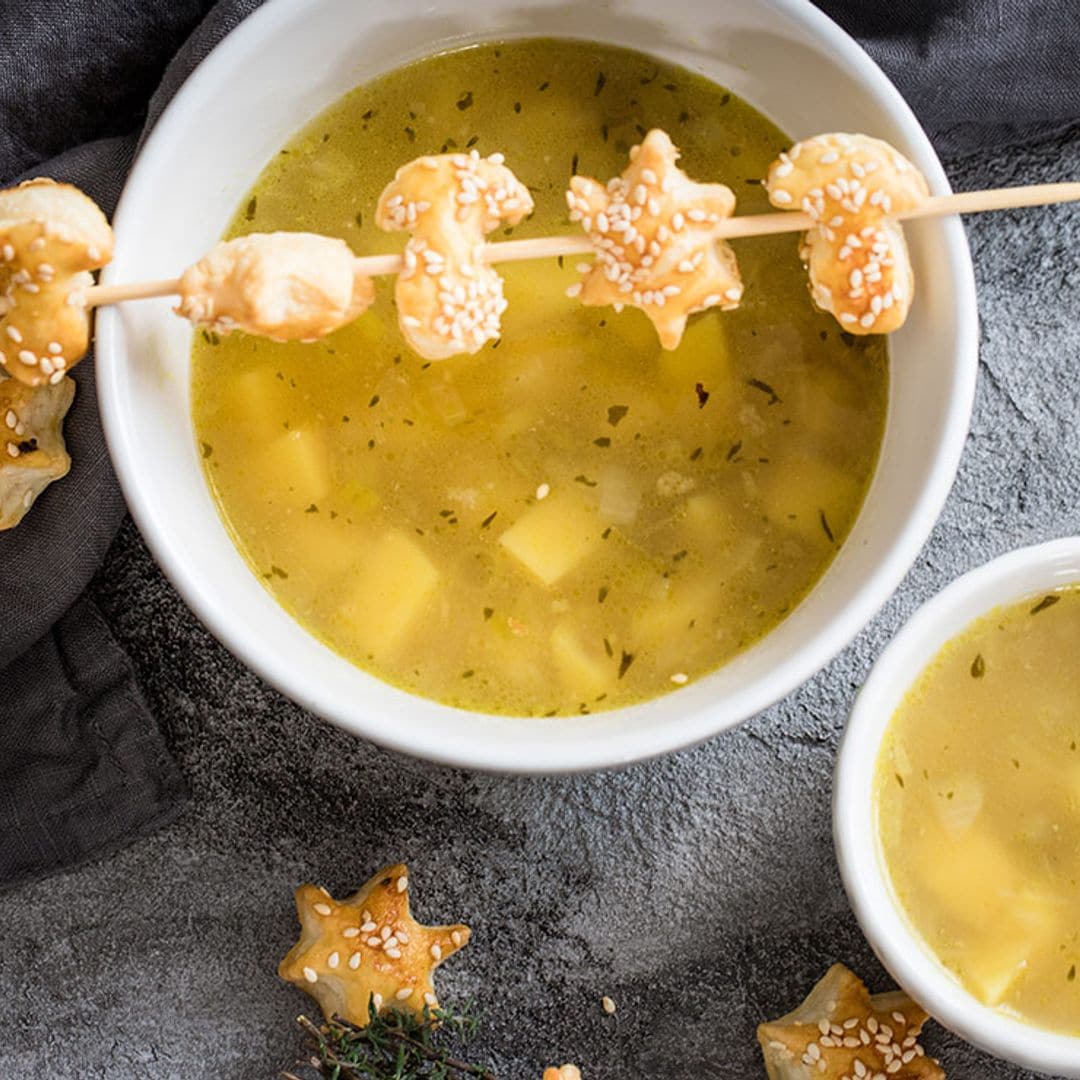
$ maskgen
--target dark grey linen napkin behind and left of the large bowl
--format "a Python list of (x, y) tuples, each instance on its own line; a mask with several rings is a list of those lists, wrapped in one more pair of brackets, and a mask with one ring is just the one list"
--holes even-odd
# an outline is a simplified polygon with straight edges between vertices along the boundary
[[(111, 213), (140, 130), (258, 5), (0, 0), (0, 184), (53, 176)], [(1077, 0), (819, 5), (862, 40), (946, 154), (1080, 119)], [(131, 662), (80, 598), (123, 502), (92, 359), (75, 379), (71, 473), (0, 532), (0, 887), (163, 824), (185, 795)]]

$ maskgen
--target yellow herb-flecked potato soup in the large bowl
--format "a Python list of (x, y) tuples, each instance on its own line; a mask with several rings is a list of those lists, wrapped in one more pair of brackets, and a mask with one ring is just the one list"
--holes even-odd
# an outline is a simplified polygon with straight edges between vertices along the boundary
[[(229, 235), (373, 222), (397, 166), (500, 150), (535, 197), (517, 237), (576, 231), (575, 171), (619, 173), (652, 126), (743, 213), (789, 140), (643, 54), (491, 43), (362, 86), (266, 167)], [(496, 239), (501, 239), (497, 237)], [(315, 345), (197, 336), (194, 422), (221, 514), (280, 603), (397, 686), (486, 712), (625, 705), (772, 629), (851, 528), (881, 441), (881, 340), (811, 306), (796, 238), (738, 245), (741, 310), (663, 352), (638, 311), (566, 297), (577, 259), (507, 265), (502, 339), (423, 363), (375, 307)]]

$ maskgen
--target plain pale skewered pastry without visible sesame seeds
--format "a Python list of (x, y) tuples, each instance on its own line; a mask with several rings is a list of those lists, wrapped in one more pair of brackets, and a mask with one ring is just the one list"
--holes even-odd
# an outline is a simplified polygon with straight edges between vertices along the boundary
[(218, 244), (180, 276), (176, 313), (220, 334), (313, 341), (363, 314), (370, 278), (343, 240), (311, 232), (254, 232)]

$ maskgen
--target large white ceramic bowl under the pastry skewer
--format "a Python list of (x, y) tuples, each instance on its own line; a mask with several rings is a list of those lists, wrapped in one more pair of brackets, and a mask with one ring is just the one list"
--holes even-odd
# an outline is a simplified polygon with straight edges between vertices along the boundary
[[(447, 46), (537, 35), (629, 45), (686, 65), (796, 137), (881, 136), (914, 159), (935, 192), (948, 190), (899, 93), (806, 0), (271, 0), (205, 59), (144, 147), (117, 211), (106, 280), (171, 278), (197, 259), (288, 137), (357, 83)], [(132, 513), (180, 594), (238, 657), (300, 704), (375, 742), (455, 765), (518, 772), (625, 765), (723, 731), (814, 674), (896, 588), (933, 525), (968, 430), (974, 284), (958, 220), (922, 221), (909, 237), (919, 295), (891, 342), (881, 462), (843, 550), (759, 645), (643, 705), (572, 720), (477, 715), (389, 687), (307, 634), (248, 570), (218, 517), (190, 419), (191, 332), (166, 300), (102, 312), (97, 378), (109, 447)]]

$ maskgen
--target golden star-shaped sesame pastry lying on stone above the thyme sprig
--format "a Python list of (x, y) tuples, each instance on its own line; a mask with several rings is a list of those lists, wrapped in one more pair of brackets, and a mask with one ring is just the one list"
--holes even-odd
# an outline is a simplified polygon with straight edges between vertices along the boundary
[(348, 900), (325, 889), (296, 890), (300, 940), (278, 974), (307, 990), (327, 1018), (335, 1014), (367, 1025), (368, 1003), (411, 1012), (436, 1009), (431, 976), (468, 944), (464, 926), (422, 927), (409, 914), (408, 870), (399, 863), (379, 870)]

